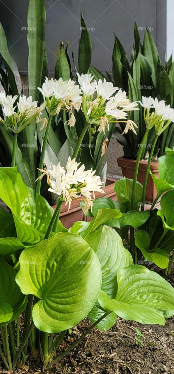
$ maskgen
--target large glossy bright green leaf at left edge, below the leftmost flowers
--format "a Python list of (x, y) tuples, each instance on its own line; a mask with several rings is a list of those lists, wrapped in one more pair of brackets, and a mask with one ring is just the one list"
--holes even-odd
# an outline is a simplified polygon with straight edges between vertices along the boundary
[(13, 213), (18, 239), (22, 243), (38, 243), (44, 239), (53, 208), (34, 190), (26, 186), (17, 167), (0, 168), (0, 198)]

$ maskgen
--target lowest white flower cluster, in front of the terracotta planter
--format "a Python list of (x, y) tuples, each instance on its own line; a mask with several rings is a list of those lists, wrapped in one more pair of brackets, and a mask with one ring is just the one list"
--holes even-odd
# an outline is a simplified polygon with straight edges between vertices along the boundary
[[(66, 164), (66, 170), (60, 165), (50, 164), (49, 169), (42, 169), (42, 175), (38, 178), (41, 179), (44, 175), (47, 175), (47, 183), (51, 191), (60, 197), (60, 200), (65, 201), (66, 205), (69, 204), (69, 208), (73, 199), (77, 199), (79, 194), (86, 197), (85, 209), (89, 206), (92, 208), (91, 195), (95, 199), (95, 192), (104, 193), (102, 190), (102, 181), (98, 175), (95, 175), (95, 170), (85, 171), (85, 165), (77, 163), (75, 159), (69, 159)], [(87, 209), (88, 210), (88, 209)]]

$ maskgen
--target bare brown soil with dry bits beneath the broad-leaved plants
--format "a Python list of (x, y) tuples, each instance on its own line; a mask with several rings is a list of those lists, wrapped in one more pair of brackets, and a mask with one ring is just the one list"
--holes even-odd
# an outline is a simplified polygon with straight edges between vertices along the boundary
[[(154, 269), (157, 270), (157, 269)], [(161, 273), (161, 270), (158, 269)], [(164, 276), (174, 286), (174, 269), (170, 276)], [(67, 349), (90, 326), (85, 318), (73, 328), (59, 347), (58, 354)], [(137, 328), (144, 338), (136, 344)], [(83, 339), (67, 356), (49, 370), (43, 369), (40, 362), (31, 358), (26, 360), (28, 373), (39, 374), (172, 374), (174, 373), (174, 317), (165, 326), (140, 325), (137, 322), (118, 318), (110, 330), (101, 332), (96, 328)], [(4, 371), (1, 365), (1, 373)], [(26, 371), (16, 369), (14, 374)]]

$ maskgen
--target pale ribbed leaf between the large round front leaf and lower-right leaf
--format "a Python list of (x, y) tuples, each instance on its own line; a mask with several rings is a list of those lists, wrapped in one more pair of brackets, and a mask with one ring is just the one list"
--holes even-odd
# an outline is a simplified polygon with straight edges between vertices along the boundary
[[(102, 269), (102, 286), (101, 289), (110, 297), (115, 297), (117, 292), (117, 271), (120, 267), (130, 266), (133, 264), (132, 256), (124, 248), (121, 237), (117, 232), (108, 226), (101, 226), (97, 231), (90, 232), (85, 240), (92, 246), (96, 252)], [(91, 322), (97, 321), (104, 312), (98, 303), (88, 314)], [(111, 313), (97, 325), (101, 331), (111, 328), (117, 321), (117, 315)]]

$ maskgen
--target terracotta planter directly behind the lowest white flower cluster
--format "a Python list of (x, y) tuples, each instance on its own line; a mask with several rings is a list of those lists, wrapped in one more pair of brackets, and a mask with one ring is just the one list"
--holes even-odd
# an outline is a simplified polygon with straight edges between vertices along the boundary
[[(105, 191), (105, 194), (101, 194), (97, 192), (95, 194), (95, 197), (110, 197), (112, 200), (117, 200), (116, 193), (114, 191), (114, 184), (117, 180), (107, 178), (106, 180), (106, 186), (103, 188)], [(81, 196), (80, 198), (84, 198), (84, 196)], [(56, 205), (53, 206), (53, 209), (56, 209)], [(68, 211), (68, 205), (65, 206), (65, 203), (62, 204), (61, 213), (60, 213), (60, 221), (63, 224), (64, 227), (69, 229), (76, 221), (87, 221), (88, 217), (83, 214), (82, 208), (80, 206), (79, 200), (73, 200), (70, 210)]]

